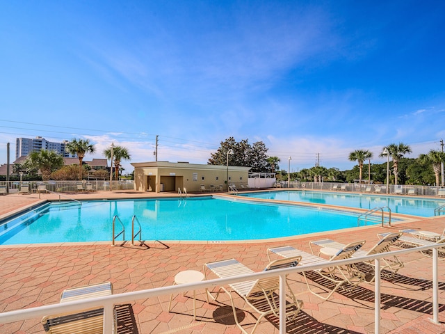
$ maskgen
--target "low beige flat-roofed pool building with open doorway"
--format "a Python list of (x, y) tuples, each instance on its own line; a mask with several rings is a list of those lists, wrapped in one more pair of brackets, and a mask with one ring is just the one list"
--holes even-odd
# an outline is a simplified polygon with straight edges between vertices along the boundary
[[(134, 167), (134, 182), (137, 191), (201, 191), (211, 186), (222, 186), (227, 191), (227, 166), (188, 164), (186, 162), (140, 162)], [(229, 184), (248, 184), (250, 167), (229, 166)]]

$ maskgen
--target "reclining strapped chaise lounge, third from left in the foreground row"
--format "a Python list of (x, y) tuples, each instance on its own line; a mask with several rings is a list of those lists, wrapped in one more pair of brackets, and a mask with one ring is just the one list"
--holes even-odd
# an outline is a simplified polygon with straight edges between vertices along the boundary
[[(293, 248), (292, 246), (282, 246), (282, 247), (275, 247), (275, 248), (268, 248), (268, 258), (270, 260), (270, 253), (275, 253), (276, 255), (280, 255), (282, 257), (291, 257), (291, 256), (297, 256), (300, 255), (302, 257), (302, 260), (300, 264), (318, 264), (322, 262), (327, 262), (331, 264), (331, 267), (327, 267), (324, 269), (318, 269), (314, 271), (315, 273), (318, 273), (321, 278), (325, 278), (326, 280), (330, 281), (330, 283), (334, 284), (334, 289), (332, 289), (327, 296), (321, 296), (321, 294), (314, 292), (314, 290), (309, 285), (309, 281), (307, 280), (307, 273), (303, 272), (303, 276), (306, 281), (307, 288), (309, 289), (312, 294), (315, 294), (316, 296), (320, 297), (321, 299), (327, 301), (327, 299), (334, 294), (338, 289), (343, 289), (346, 291), (350, 291), (354, 289), (357, 285), (362, 283), (364, 281), (365, 275), (361, 271), (355, 267), (355, 264), (346, 264), (346, 265), (336, 265), (335, 261), (337, 260), (344, 260), (352, 257), (357, 250), (362, 248), (365, 241), (357, 241), (357, 242), (351, 242), (350, 244), (343, 246), (334, 256), (331, 257), (330, 260), (325, 260), (322, 257), (318, 257), (316, 255), (306, 253), (302, 250)], [(349, 287), (346, 287), (346, 285), (349, 285)]]

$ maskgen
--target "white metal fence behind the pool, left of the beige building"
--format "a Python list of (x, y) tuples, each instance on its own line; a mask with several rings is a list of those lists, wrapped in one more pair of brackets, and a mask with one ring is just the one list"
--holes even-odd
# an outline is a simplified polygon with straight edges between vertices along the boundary
[[(6, 188), (8, 193), (23, 191), (23, 186), (28, 186), (29, 192), (37, 192), (39, 185), (44, 184), (46, 189), (55, 193), (72, 193), (76, 191), (103, 191), (110, 190), (109, 181), (84, 180), (84, 181), (0, 181), (0, 187)], [(88, 186), (88, 187), (87, 187)], [(133, 190), (133, 180), (111, 182), (113, 190)]]

